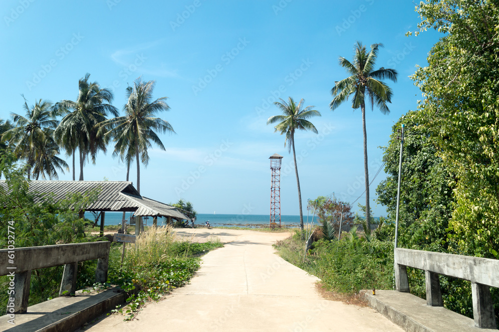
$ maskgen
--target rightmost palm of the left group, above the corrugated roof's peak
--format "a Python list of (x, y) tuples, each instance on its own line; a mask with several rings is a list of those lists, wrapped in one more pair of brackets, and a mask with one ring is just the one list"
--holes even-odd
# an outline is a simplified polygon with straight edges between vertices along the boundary
[(162, 150), (165, 146), (155, 131), (161, 133), (175, 133), (170, 123), (154, 117), (158, 112), (168, 111), (170, 106), (166, 103), (167, 97), (152, 101), (152, 93), (155, 81), (143, 82), (141, 77), (134, 81), (134, 86), (127, 87), (127, 103), (123, 106), (125, 116), (115, 117), (102, 122), (101, 130), (107, 126), (112, 129), (105, 136), (112, 135), (115, 146), (115, 154), (119, 154), (126, 160), (127, 178), (130, 163), (135, 158), (137, 162), (137, 191), (140, 193), (140, 162), (145, 166), (149, 163), (147, 148), (151, 141), (156, 143)]

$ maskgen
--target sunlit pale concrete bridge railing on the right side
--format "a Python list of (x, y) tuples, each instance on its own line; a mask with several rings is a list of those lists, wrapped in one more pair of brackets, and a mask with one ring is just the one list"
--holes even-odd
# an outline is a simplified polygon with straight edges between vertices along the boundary
[(409, 292), (407, 267), (425, 271), (429, 306), (443, 306), (439, 275), (471, 281), (475, 325), (496, 329), (490, 288), (499, 288), (499, 260), (395, 248), (395, 284), (399, 292)]

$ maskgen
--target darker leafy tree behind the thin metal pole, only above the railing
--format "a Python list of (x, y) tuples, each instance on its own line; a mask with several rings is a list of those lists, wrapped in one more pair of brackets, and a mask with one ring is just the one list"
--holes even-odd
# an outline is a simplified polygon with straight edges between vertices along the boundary
[(395, 223), (399, 174), (400, 128), (405, 124), (400, 186), (399, 244), (402, 248), (445, 252), (452, 217), (452, 178), (428, 135), (418, 130), (415, 112), (408, 112), (392, 127), (383, 149), (387, 178), (376, 188), (377, 202), (386, 207), (388, 223)]

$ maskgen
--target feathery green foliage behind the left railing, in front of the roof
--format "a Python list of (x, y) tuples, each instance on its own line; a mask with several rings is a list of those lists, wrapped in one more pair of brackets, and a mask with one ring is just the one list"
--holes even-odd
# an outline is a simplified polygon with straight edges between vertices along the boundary
[[(28, 182), (24, 179), (25, 169), (13, 163), (12, 154), (0, 155), (0, 170), (6, 179), (6, 188), (0, 186), (1, 249), (7, 248), (7, 245), (21, 248), (94, 240), (85, 237), (83, 220), (78, 218), (72, 208), (78, 211), (91, 204), (97, 192), (86, 193), (85, 196), (68, 195), (58, 201), (54, 201), (50, 195), (41, 199), (39, 194), (28, 193)], [(12, 233), (8, 233), (7, 226), (11, 226)], [(62, 266), (32, 271), (29, 305), (58, 295), (62, 271)], [(0, 285), (7, 282), (6, 277), (0, 277)], [(0, 311), (3, 312), (6, 296), (6, 292), (0, 293)]]

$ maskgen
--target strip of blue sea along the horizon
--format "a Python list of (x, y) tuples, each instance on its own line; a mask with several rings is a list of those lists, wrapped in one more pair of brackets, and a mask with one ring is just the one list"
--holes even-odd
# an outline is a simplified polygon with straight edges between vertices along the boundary
[[(126, 213), (126, 219), (129, 221), (131, 213)], [(118, 225), (121, 223), (123, 212), (106, 212), (104, 225)], [(92, 213), (85, 212), (85, 218), (95, 220)], [(146, 219), (147, 218), (147, 219)], [(152, 225), (153, 218), (145, 217), (144, 225)], [(208, 214), (198, 213), (195, 225), (204, 226), (205, 222), (209, 221), (211, 226), (226, 226), (226, 227), (263, 227), (269, 225), (269, 215), (250, 215), (250, 214)], [(307, 216), (303, 216), (303, 222), (306, 224)], [(312, 216), (309, 216), (309, 222), (312, 221)], [(100, 220), (99, 220), (100, 224)], [(158, 225), (166, 225), (166, 218), (158, 217)], [(300, 216), (281, 215), (281, 225), (286, 227), (299, 227)]]

